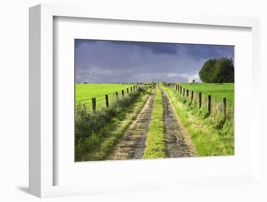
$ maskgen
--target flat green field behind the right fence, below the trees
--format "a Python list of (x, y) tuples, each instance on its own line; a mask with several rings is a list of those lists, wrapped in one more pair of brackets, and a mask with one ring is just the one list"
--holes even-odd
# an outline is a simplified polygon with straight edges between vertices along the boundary
[(211, 95), (212, 100), (222, 102), (222, 98), (226, 98), (229, 107), (234, 106), (234, 84), (202, 84), (202, 83), (178, 83), (183, 88), (201, 92), (203, 96)]

